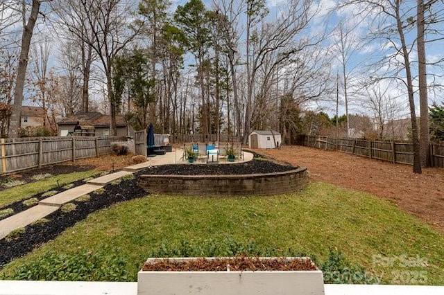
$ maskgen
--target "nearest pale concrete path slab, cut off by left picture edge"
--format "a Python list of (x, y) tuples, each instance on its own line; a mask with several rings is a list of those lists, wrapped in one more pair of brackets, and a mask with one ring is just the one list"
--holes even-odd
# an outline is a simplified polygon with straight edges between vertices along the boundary
[(25, 227), (41, 218), (48, 216), (49, 214), (58, 210), (55, 206), (37, 205), (29, 208), (26, 211), (22, 211), (11, 217), (5, 218), (0, 221), (0, 240), (5, 238), (8, 233)]

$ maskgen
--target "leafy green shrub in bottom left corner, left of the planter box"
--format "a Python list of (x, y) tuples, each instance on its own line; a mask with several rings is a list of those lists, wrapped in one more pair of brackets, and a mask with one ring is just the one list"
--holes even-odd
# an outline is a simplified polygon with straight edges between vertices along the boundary
[(26, 262), (5, 279), (10, 280), (128, 280), (126, 259), (104, 252), (46, 253)]

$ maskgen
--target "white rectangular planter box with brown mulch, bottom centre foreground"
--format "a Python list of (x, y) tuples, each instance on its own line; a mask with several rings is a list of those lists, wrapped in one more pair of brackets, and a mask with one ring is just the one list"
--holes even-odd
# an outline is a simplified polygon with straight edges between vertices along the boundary
[(137, 294), (324, 294), (310, 258), (150, 258)]

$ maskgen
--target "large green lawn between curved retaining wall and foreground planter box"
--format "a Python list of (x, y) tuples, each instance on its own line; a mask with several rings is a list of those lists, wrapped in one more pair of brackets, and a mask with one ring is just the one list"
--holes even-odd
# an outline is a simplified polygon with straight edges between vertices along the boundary
[[(32, 265), (47, 253), (108, 249), (128, 259), (128, 280), (135, 280), (153, 251), (226, 239), (278, 252), (291, 248), (319, 260), (337, 249), (384, 283), (444, 285), (442, 233), (391, 202), (319, 182), (300, 193), (272, 197), (160, 195), (117, 204), (89, 215), (3, 272)], [(413, 267), (407, 260), (427, 266)]]

